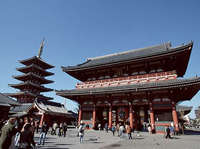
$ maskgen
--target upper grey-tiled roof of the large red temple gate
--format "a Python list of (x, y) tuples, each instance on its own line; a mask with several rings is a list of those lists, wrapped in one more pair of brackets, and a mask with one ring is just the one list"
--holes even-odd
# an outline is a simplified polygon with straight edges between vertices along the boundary
[(137, 61), (137, 60), (142, 60), (145, 58), (151, 58), (154, 56), (179, 52), (181, 50), (185, 50), (185, 48), (187, 47), (192, 47), (192, 45), (193, 45), (193, 42), (190, 42), (186, 45), (171, 47), (170, 43), (165, 43), (161, 45), (135, 49), (135, 50), (125, 51), (125, 52), (116, 53), (116, 54), (88, 58), (87, 61), (85, 61), (82, 64), (78, 64), (76, 66), (62, 67), (62, 69), (64, 72), (68, 73), (70, 71), (92, 69), (92, 68), (101, 67), (101, 66), (112, 66), (113, 64), (121, 64), (127, 61)]

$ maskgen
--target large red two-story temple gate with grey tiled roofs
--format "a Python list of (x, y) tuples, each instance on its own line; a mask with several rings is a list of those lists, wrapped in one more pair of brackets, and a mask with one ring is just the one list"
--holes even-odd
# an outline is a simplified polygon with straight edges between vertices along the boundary
[(141, 130), (150, 123), (162, 133), (174, 123), (178, 131), (177, 103), (190, 100), (200, 89), (200, 78), (182, 78), (193, 42), (177, 47), (171, 43), (88, 58), (82, 64), (62, 67), (80, 80), (75, 89), (57, 95), (79, 103), (79, 123), (109, 128), (129, 123)]

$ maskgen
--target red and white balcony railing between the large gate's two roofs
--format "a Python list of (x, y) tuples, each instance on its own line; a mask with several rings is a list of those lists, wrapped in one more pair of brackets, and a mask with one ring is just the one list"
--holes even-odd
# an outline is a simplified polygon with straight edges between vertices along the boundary
[(76, 88), (98, 88), (98, 87), (108, 87), (108, 86), (118, 86), (118, 85), (128, 85), (144, 82), (155, 82), (162, 80), (176, 79), (177, 74), (174, 71), (159, 72), (152, 74), (144, 74), (137, 76), (127, 76), (120, 78), (104, 79), (87, 81), (82, 83), (77, 83)]

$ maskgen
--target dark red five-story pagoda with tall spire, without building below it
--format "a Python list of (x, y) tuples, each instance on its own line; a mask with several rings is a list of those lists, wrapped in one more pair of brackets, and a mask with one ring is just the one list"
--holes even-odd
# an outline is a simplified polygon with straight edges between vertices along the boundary
[(9, 86), (20, 90), (20, 92), (8, 94), (10, 97), (16, 98), (20, 103), (33, 103), (35, 99), (52, 99), (41, 94), (41, 92), (48, 92), (53, 90), (44, 87), (44, 84), (53, 83), (52, 80), (48, 80), (45, 77), (54, 74), (47, 71), (47, 69), (54, 68), (54, 66), (46, 63), (41, 59), (43, 46), (44, 41), (42, 41), (40, 45), (38, 56), (19, 61), (25, 66), (17, 68), (17, 70), (24, 74), (13, 76), (13, 78), (22, 81), (22, 83), (9, 84)]

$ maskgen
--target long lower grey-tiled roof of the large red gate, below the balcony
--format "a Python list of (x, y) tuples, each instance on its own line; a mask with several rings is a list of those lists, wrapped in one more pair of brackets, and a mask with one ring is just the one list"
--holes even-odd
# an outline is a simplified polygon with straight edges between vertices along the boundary
[(200, 89), (200, 77), (190, 79), (172, 79), (157, 82), (137, 83), (131, 85), (120, 85), (113, 87), (101, 87), (101, 88), (87, 88), (87, 89), (72, 89), (72, 90), (60, 90), (56, 91), (57, 95), (74, 99), (76, 96), (84, 95), (98, 95), (98, 94), (113, 94), (113, 93), (134, 93), (143, 91), (154, 90), (166, 90), (175, 89), (180, 87), (197, 86), (196, 91)]

